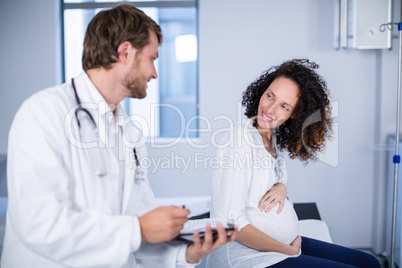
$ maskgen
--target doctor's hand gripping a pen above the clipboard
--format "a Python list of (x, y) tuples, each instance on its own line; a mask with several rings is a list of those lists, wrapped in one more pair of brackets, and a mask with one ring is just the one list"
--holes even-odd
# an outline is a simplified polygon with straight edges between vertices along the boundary
[(169, 206), (158, 207), (139, 217), (141, 240), (148, 243), (170, 241), (179, 235), (190, 210)]

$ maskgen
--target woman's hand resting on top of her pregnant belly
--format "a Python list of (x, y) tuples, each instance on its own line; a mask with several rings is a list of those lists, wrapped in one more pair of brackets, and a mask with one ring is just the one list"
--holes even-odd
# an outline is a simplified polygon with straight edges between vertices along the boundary
[(269, 212), (273, 207), (279, 203), (279, 208), (277, 213), (281, 213), (283, 208), (283, 202), (287, 197), (288, 189), (286, 185), (279, 182), (272, 186), (271, 189), (268, 190), (266, 194), (261, 198), (260, 202), (258, 202), (258, 207), (261, 211)]

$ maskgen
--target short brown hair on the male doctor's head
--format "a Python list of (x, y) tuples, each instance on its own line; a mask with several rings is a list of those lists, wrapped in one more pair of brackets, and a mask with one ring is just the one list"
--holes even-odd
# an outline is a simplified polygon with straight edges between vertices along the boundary
[(159, 25), (142, 10), (129, 3), (99, 12), (88, 24), (84, 38), (82, 68), (110, 69), (119, 57), (117, 49), (125, 41), (141, 51), (149, 44), (150, 32), (162, 43)]

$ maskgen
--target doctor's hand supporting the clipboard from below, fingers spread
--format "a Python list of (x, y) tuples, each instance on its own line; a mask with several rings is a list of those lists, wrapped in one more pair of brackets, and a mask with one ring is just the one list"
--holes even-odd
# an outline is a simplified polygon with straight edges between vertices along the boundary
[(189, 263), (197, 263), (212, 251), (220, 246), (233, 241), (237, 236), (237, 226), (234, 231), (228, 231), (223, 228), (222, 224), (217, 224), (217, 236), (212, 234), (211, 225), (208, 223), (205, 227), (205, 234), (200, 238), (198, 231), (194, 232), (194, 242), (186, 249), (186, 260)]

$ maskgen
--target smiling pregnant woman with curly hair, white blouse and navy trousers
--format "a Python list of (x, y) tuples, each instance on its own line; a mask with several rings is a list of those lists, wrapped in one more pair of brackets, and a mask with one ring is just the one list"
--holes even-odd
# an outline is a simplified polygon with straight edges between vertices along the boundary
[(328, 89), (316, 68), (284, 62), (243, 93), (248, 120), (218, 148), (211, 205), (211, 217), (233, 220), (240, 232), (208, 257), (208, 267), (380, 267), (369, 254), (298, 236), (282, 153), (307, 164), (331, 135)]

